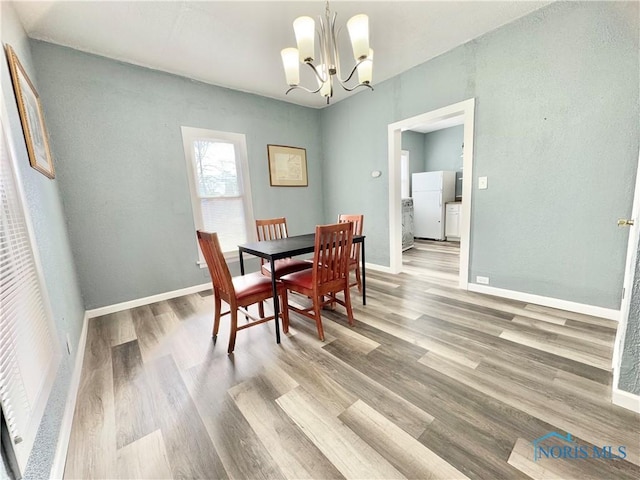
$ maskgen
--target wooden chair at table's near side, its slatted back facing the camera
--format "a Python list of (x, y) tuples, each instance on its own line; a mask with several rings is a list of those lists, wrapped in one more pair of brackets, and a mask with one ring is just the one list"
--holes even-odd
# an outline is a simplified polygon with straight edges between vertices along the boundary
[[(353, 244), (351, 225), (337, 223), (316, 227), (315, 249), (311, 269), (280, 277), (287, 290), (309, 297), (308, 308), (287, 307), (312, 320), (318, 329), (318, 338), (324, 340), (320, 310), (324, 305), (339, 303), (347, 310), (349, 325), (353, 325), (353, 311), (349, 295), (349, 255)], [(336, 294), (344, 293), (344, 300)], [(326, 298), (325, 298), (326, 297)]]

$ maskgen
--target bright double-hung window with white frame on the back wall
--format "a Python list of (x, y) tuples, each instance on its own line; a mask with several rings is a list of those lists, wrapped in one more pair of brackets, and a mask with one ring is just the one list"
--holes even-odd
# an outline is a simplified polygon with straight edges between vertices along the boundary
[[(182, 127), (182, 139), (196, 229), (217, 232), (222, 251), (233, 256), (255, 237), (245, 136)], [(200, 249), (198, 256), (204, 268)]]

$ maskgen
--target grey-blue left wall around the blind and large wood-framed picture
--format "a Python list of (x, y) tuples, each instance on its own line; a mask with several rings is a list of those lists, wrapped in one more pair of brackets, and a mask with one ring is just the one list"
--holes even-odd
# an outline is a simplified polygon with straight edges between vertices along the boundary
[[(2, 2), (0, 5), (2, 18), (2, 43), (11, 45), (20, 63), (26, 69), (29, 78), (40, 92), (43, 83), (40, 72), (34, 68), (28, 39), (17, 19), (13, 6)], [(4, 52), (2, 53), (4, 57)], [(10, 141), (15, 146), (16, 163), (22, 179), (26, 205), (33, 224), (33, 234), (46, 289), (49, 294), (51, 312), (55, 324), (55, 334), (63, 354), (58, 374), (49, 397), (44, 417), (38, 430), (25, 478), (48, 478), (53, 455), (56, 448), (60, 421), (65, 408), (71, 373), (77, 355), (84, 305), (80, 296), (76, 276), (75, 260), (67, 235), (66, 212), (63, 211), (60, 182), (56, 178), (50, 180), (29, 166), (29, 157), (25, 139), (22, 134), (18, 107), (11, 86), (11, 77), (6, 60), (0, 62), (2, 80), (2, 100), (6, 106), (8, 118), (2, 118), (3, 124), (11, 134)], [(51, 118), (45, 113), (47, 124)], [(3, 146), (2, 148), (5, 148)], [(53, 155), (53, 161), (58, 167), (58, 158)], [(66, 353), (66, 335), (69, 335), (74, 353)]]

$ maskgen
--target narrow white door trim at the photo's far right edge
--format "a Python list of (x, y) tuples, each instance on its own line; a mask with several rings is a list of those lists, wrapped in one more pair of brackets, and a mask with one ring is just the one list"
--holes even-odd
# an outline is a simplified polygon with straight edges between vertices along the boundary
[(627, 334), (627, 324), (629, 321), (629, 310), (631, 308), (631, 295), (633, 294), (633, 281), (638, 253), (638, 240), (640, 237), (640, 153), (638, 154), (638, 167), (636, 169), (636, 185), (633, 193), (633, 207), (631, 209), (631, 219), (633, 225), (629, 227), (629, 240), (627, 243), (627, 257), (624, 270), (623, 298), (620, 305), (620, 318), (618, 320), (618, 330), (616, 340), (613, 345), (613, 356), (611, 367), (613, 368), (613, 389), (618, 389), (620, 380), (620, 365), (622, 363), (622, 350)]

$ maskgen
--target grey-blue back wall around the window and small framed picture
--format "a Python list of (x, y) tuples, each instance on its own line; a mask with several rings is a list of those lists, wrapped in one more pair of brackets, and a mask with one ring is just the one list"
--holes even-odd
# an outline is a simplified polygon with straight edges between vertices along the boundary
[[(256, 218), (323, 222), (317, 111), (32, 42), (87, 309), (209, 281), (180, 127), (246, 134)], [(270, 187), (267, 144), (307, 150), (309, 186)]]

